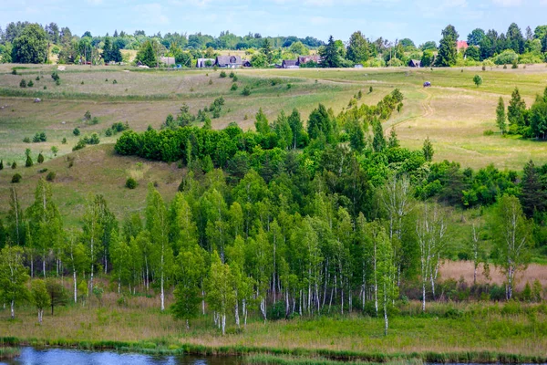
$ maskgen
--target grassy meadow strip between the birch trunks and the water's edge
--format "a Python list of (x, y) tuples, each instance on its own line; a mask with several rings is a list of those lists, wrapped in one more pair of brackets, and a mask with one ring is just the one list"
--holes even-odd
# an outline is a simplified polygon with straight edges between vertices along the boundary
[[(129, 297), (127, 305), (116, 304), (118, 295), (105, 295), (103, 307), (91, 301), (88, 307), (70, 305), (46, 313), (42, 326), (36, 325), (32, 308), (19, 308), (15, 320), (0, 311), (0, 337), (46, 341), (160, 341), (164, 346), (184, 343), (208, 347), (253, 347), (263, 349), (314, 349), (365, 353), (499, 351), (546, 356), (547, 325), (543, 307), (504, 305), (431, 304), (428, 316), (401, 315), (390, 319), (390, 332), (383, 336), (381, 318), (361, 315), (293, 320), (249, 320), (244, 331), (236, 331), (228, 318), (229, 334), (214, 328), (211, 316), (184, 323), (173, 321), (169, 312), (160, 313), (158, 299)], [(505, 305), (511, 306), (511, 305)], [(447, 315), (449, 309), (461, 316)], [(419, 303), (402, 308), (419, 312)], [(480, 318), (480, 320), (478, 320)]]

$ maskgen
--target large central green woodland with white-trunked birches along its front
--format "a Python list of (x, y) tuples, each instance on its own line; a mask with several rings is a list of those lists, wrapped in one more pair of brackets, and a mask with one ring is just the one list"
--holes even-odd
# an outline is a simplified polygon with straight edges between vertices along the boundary
[[(404, 108), (398, 89), (374, 106), (361, 98), (338, 115), (319, 105), (308, 120), (293, 110), (271, 121), (260, 110), (255, 131), (212, 130), (208, 113), (222, 100), (198, 115), (181, 108), (162, 130), (125, 130), (120, 155), (184, 169), (172, 202), (150, 184), (141, 214), (114, 216), (103, 196), (89, 196), (80, 227), (67, 227), (55, 182), (40, 180), (28, 207), (14, 184), (0, 224), (0, 296), (13, 317), (27, 300), (40, 313), (65, 290), (33, 280), (29, 293), (28, 276), (72, 276), (74, 302), (100, 297), (95, 278), (108, 276), (120, 295), (156, 293), (161, 310), (172, 292), (170, 311), (187, 326), (211, 311), (222, 332), (227, 317), (244, 326), (249, 312), (361, 312), (383, 317), (387, 332), (411, 299), (423, 311), (431, 300), (542, 300), (539, 281), (514, 286), (547, 255), (547, 165), (501, 172), (432, 162), (428, 139), (409, 151), (395, 129), (385, 137), (382, 121)], [(475, 270), (499, 266), (504, 285), (441, 280), (442, 261), (458, 258)]]

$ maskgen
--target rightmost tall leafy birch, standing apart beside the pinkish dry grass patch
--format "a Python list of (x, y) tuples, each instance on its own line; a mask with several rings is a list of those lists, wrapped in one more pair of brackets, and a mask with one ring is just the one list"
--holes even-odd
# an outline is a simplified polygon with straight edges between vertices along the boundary
[(521, 202), (515, 196), (503, 195), (492, 220), (494, 243), (499, 255), (496, 264), (506, 280), (506, 297), (511, 299), (515, 278), (530, 262), (532, 221), (522, 213)]

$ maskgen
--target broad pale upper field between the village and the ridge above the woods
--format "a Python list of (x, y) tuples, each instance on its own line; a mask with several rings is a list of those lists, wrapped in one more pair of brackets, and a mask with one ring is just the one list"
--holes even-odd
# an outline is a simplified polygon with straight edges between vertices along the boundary
[[(8, 161), (23, 162), (23, 152), (48, 151), (51, 145), (70, 151), (77, 139), (71, 131), (80, 127), (84, 133), (105, 130), (114, 121), (129, 121), (134, 130), (155, 128), (168, 114), (176, 114), (182, 103), (191, 112), (211, 104), (222, 96), (226, 104), (213, 128), (235, 121), (243, 129), (253, 128), (253, 115), (263, 108), (269, 119), (280, 110), (298, 108), (307, 117), (318, 103), (335, 112), (343, 110), (348, 100), (363, 90), (359, 102), (375, 104), (392, 89), (405, 95), (404, 108), (385, 125), (397, 127), (403, 146), (419, 148), (426, 136), (435, 147), (434, 160), (460, 162), (464, 166), (484, 167), (494, 163), (500, 169), (521, 169), (530, 159), (536, 164), (547, 162), (547, 143), (501, 138), (498, 133), (484, 136), (485, 130), (496, 130), (494, 118), (497, 100), (507, 101), (519, 87), (530, 105), (536, 94), (547, 86), (544, 65), (519, 69), (480, 68), (363, 68), (363, 69), (240, 69), (238, 91), (230, 91), (231, 78), (219, 78), (220, 71), (178, 70), (138, 71), (129, 67), (67, 66), (60, 72), (61, 85), (49, 77), (54, 66), (29, 66), (18, 69), (22, 76), (11, 75), (14, 65), (0, 66), (0, 156)], [(476, 88), (472, 78), (480, 73), (483, 85)], [(36, 76), (44, 76), (36, 81)], [(19, 88), (21, 78), (35, 80), (33, 88)], [(113, 84), (113, 80), (117, 84)], [(209, 85), (209, 80), (212, 85)], [(108, 81), (107, 81), (108, 80)], [(272, 80), (275, 81), (273, 86)], [(423, 81), (433, 87), (423, 89)], [(83, 82), (83, 84), (82, 84)], [(287, 87), (291, 84), (291, 87)], [(44, 89), (46, 86), (47, 89)], [(243, 86), (252, 95), (243, 97)], [(368, 93), (368, 88), (374, 91)], [(31, 97), (40, 97), (33, 103)], [(85, 125), (86, 110), (97, 116), (97, 125)], [(247, 118), (245, 118), (245, 116)], [(64, 124), (63, 124), (64, 122)], [(46, 131), (48, 141), (26, 144), (24, 137)], [(67, 146), (60, 140), (66, 137)], [(102, 138), (112, 142), (114, 138)]]

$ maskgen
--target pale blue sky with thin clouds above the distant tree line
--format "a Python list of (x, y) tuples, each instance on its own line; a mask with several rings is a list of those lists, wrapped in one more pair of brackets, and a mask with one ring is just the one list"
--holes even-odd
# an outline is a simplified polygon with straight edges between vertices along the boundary
[(439, 41), (444, 26), (456, 26), (461, 39), (475, 27), (505, 32), (547, 24), (547, 0), (0, 0), (0, 26), (28, 20), (56, 22), (81, 36), (112, 35), (114, 29), (147, 34), (202, 32), (237, 35), (329, 35), (346, 41), (355, 30), (367, 37), (410, 37), (417, 45)]

